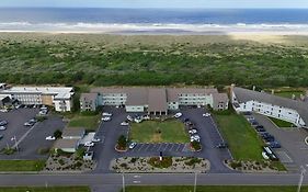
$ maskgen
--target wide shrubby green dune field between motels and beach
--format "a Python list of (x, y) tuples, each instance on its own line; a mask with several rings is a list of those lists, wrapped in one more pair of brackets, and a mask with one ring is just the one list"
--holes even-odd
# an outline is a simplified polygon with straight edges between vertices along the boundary
[(243, 36), (1, 33), (0, 81), (308, 86), (306, 36)]

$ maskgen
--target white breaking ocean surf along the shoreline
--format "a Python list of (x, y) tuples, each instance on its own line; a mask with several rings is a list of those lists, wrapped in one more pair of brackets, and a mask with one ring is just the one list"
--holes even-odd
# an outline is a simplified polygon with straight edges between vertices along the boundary
[(185, 23), (31, 23), (31, 22), (2, 22), (0, 31), (66, 31), (66, 32), (123, 32), (123, 31), (186, 31), (186, 32), (208, 32), (208, 31), (292, 31), (308, 32), (308, 24), (185, 24)]

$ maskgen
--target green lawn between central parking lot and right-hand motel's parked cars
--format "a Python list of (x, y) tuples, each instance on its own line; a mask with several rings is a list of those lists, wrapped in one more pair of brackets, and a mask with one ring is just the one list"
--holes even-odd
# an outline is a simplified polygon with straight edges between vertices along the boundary
[(218, 127), (237, 160), (261, 160), (263, 143), (248, 121), (238, 114), (214, 114)]

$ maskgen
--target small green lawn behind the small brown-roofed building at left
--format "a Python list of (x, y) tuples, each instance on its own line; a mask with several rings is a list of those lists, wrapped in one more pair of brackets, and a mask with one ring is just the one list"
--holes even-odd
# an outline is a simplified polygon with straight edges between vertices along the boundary
[(87, 131), (95, 131), (99, 127), (100, 114), (98, 115), (75, 115), (68, 126), (84, 127)]

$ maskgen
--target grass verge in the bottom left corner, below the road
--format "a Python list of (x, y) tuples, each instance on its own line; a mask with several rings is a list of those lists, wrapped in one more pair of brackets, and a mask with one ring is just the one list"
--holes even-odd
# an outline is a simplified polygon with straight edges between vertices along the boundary
[(16, 187), (16, 188), (0, 188), (0, 192), (91, 192), (89, 187)]

